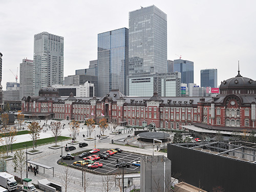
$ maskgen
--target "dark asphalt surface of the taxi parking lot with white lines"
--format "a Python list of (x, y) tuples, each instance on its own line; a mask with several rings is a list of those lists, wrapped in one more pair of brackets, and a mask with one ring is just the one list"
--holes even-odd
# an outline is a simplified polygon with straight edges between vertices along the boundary
[[(100, 153), (103, 153), (107, 150), (108, 149), (103, 148), (103, 149), (100, 149), (100, 152), (92, 154), (92, 155), (99, 155)], [(99, 174), (118, 174), (118, 173), (122, 173), (122, 170), (124, 173), (140, 172), (140, 166), (132, 165), (132, 163), (134, 161), (140, 160), (140, 157), (141, 157), (141, 155), (139, 155), (139, 154), (134, 154), (134, 153), (123, 151), (122, 153), (117, 153), (115, 155), (110, 156), (108, 159), (97, 160), (96, 162), (102, 163), (103, 167), (102, 168), (94, 168), (92, 170), (94, 170), (95, 172), (97, 172)], [(62, 161), (65, 163), (68, 163), (68, 164), (72, 164), (73, 162), (79, 161), (79, 160), (82, 160), (82, 158), (79, 158), (78, 156), (76, 156), (74, 160), (62, 160)], [(130, 163), (130, 167), (124, 167), (123, 169), (122, 169), (122, 167), (116, 168), (117, 160), (119, 162), (125, 161), (125, 162)], [(58, 161), (61, 161), (61, 159)]]

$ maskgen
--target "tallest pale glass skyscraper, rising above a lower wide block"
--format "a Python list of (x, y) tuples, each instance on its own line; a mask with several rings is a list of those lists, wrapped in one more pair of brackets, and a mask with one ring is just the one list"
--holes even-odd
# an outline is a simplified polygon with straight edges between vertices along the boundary
[(167, 72), (167, 15), (156, 6), (129, 12), (129, 75)]

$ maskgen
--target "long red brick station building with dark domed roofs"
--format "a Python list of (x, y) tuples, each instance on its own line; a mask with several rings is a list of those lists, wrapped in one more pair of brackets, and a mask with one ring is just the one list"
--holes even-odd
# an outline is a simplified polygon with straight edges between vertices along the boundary
[(125, 96), (112, 90), (102, 98), (60, 97), (58, 90), (43, 88), (39, 96), (22, 99), (25, 116), (83, 121), (103, 116), (120, 125), (181, 129), (195, 125), (210, 130), (242, 131), (255, 129), (256, 81), (236, 77), (221, 82), (217, 97)]

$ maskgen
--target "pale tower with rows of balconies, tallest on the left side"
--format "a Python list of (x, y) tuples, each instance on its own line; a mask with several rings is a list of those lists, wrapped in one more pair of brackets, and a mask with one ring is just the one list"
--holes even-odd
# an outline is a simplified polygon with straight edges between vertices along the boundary
[(48, 32), (34, 35), (35, 95), (41, 88), (63, 84), (64, 38)]

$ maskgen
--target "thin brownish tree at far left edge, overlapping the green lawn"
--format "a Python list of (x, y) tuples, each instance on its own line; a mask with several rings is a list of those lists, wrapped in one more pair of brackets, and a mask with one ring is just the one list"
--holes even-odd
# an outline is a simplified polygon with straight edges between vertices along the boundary
[(16, 130), (11, 127), (9, 131), (2, 133), (2, 138), (0, 138), (0, 143), (4, 145), (4, 150), (6, 152), (6, 156), (8, 157), (8, 153), (10, 151), (11, 145), (14, 141), (16, 141)]

